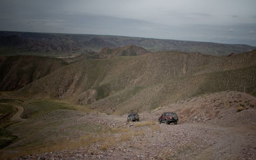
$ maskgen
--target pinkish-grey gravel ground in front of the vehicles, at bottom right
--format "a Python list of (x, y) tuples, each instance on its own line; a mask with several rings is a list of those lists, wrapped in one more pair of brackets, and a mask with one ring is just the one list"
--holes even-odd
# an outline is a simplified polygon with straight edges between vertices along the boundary
[[(131, 130), (134, 126), (131, 126)], [(15, 158), (22, 159), (109, 159), (109, 160), (182, 160), (182, 159), (256, 159), (255, 128), (220, 127), (202, 124), (158, 124), (152, 131), (119, 142), (106, 151), (98, 143), (90, 148), (63, 150)]]

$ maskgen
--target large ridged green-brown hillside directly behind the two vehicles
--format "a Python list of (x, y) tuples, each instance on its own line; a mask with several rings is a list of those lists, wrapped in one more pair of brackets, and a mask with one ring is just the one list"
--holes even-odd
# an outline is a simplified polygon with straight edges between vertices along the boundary
[(152, 110), (206, 92), (256, 94), (253, 52), (238, 55), (238, 63), (246, 62), (239, 65), (231, 65), (225, 57), (182, 52), (88, 60), (60, 68), (14, 95), (69, 99), (101, 111), (124, 114)]

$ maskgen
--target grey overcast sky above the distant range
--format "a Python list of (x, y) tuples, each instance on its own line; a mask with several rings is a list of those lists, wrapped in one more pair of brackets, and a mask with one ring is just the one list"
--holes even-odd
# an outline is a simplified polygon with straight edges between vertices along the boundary
[(256, 46), (256, 0), (0, 0), (0, 30)]

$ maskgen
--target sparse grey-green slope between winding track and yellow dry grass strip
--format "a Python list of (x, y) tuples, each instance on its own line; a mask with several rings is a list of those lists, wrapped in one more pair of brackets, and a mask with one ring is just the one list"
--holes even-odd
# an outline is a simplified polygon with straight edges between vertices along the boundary
[[(44, 146), (62, 144), (88, 134), (102, 132), (103, 127), (82, 120), (86, 114), (75, 110), (54, 110), (26, 121), (8, 126), (19, 136), (18, 141), (6, 149), (34, 150)], [(68, 146), (69, 144), (65, 144)], [(64, 149), (64, 148), (63, 148)]]

